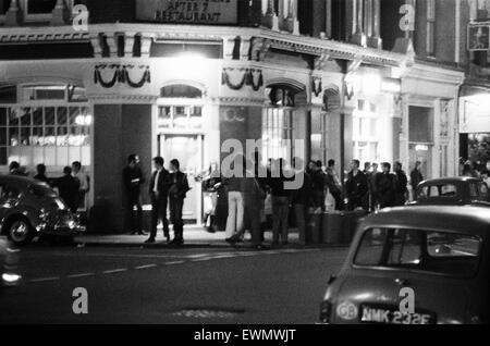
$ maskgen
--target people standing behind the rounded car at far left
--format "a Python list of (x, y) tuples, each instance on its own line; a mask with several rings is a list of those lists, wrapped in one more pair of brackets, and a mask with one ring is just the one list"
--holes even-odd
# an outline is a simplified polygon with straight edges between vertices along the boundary
[[(21, 166), (16, 161), (10, 163), (9, 174), (28, 176), (25, 168)], [(36, 166), (34, 178), (57, 188), (60, 198), (73, 213), (76, 213), (79, 208), (84, 207), (85, 196), (90, 189), (89, 177), (79, 161), (73, 162), (71, 166), (65, 166), (60, 177), (48, 177), (46, 165), (40, 163)]]

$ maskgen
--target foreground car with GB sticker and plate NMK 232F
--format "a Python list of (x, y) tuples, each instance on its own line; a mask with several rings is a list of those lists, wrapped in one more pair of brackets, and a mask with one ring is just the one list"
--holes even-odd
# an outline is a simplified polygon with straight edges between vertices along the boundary
[[(482, 207), (403, 207), (366, 218), (328, 282), (320, 322), (488, 323), (489, 236)], [(407, 291), (413, 310), (405, 309)]]

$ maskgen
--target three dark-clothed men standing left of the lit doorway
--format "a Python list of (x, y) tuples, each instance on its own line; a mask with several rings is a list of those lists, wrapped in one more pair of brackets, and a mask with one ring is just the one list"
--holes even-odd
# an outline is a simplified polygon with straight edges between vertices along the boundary
[[(149, 238), (146, 244), (156, 243), (159, 221), (163, 224), (163, 235), (167, 243), (181, 246), (184, 244), (184, 221), (182, 211), (189, 185), (185, 173), (181, 172), (179, 160), (170, 161), (170, 172), (164, 168), (164, 159), (157, 157), (154, 160), (155, 171), (149, 182), (148, 195), (151, 199), (151, 225)], [(131, 215), (133, 234), (145, 235), (143, 231), (143, 207), (140, 186), (146, 180), (139, 168), (139, 158), (131, 155), (127, 165), (123, 170), (123, 182), (127, 195), (127, 214)], [(170, 221), (173, 224), (174, 238), (170, 239), (169, 220), (167, 209), (170, 207)], [(136, 209), (136, 215), (134, 211)]]

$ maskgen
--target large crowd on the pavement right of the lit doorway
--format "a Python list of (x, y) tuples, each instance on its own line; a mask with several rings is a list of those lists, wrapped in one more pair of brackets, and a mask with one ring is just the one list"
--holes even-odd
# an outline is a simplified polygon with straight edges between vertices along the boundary
[[(241, 165), (238, 170), (236, 164)], [(391, 164), (384, 162), (381, 164), (381, 171), (378, 171), (376, 163), (366, 163), (364, 170), (360, 170), (360, 162), (353, 160), (342, 184), (334, 160), (323, 166), (320, 161), (305, 164), (298, 158), (295, 158), (291, 165), (283, 159), (270, 159), (268, 165), (262, 168), (258, 153), (254, 162), (248, 162), (245, 157), (235, 158), (231, 168), (233, 176), (223, 177), (226, 174), (221, 175), (219, 166), (213, 164), (203, 177), (205, 206), (209, 197), (209, 208), (205, 211), (207, 218), (211, 219), (208, 228), (215, 232), (212, 218), (217, 207), (216, 195), (219, 188), (224, 188), (228, 196), (228, 243), (234, 245), (243, 242), (248, 230), (253, 246), (261, 247), (270, 218), (273, 246), (289, 244), (291, 220), (294, 220), (298, 228), (299, 244), (305, 245), (306, 227), (313, 212), (320, 213), (328, 209), (362, 209), (370, 212), (405, 205), (409, 200), (408, 184), (416, 187), (424, 180), (420, 165), (420, 162), (416, 163), (408, 178), (401, 162), (395, 162), (393, 171)], [(255, 172), (246, 171), (250, 166)], [(261, 170), (265, 174), (259, 174)], [(236, 175), (236, 172), (242, 174)], [(303, 184), (286, 188), (285, 183), (292, 181)]]

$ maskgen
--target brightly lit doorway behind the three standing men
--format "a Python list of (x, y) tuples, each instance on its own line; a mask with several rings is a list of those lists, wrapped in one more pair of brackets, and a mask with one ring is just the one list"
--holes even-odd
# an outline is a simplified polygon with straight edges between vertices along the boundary
[(191, 190), (184, 201), (183, 219), (189, 224), (203, 222), (203, 191), (197, 182), (204, 171), (203, 140), (203, 135), (161, 134), (158, 137), (159, 156), (164, 158), (167, 164), (177, 159), (181, 171), (187, 174)]

